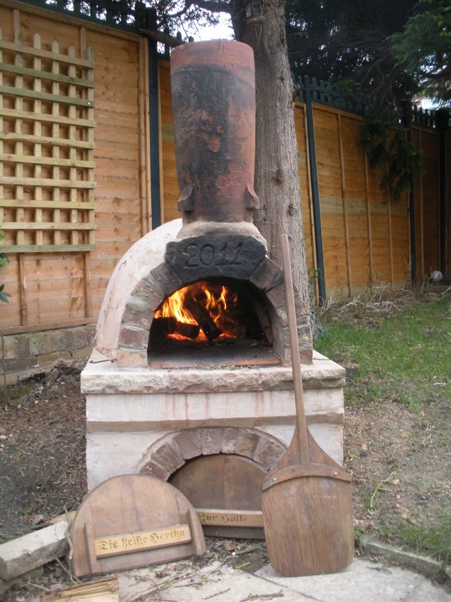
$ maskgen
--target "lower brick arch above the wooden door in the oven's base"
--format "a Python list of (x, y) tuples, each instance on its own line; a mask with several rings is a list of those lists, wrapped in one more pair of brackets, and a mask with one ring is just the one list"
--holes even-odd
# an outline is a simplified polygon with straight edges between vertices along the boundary
[(153, 443), (137, 466), (137, 473), (168, 480), (187, 460), (201, 455), (230, 453), (271, 469), (287, 450), (275, 437), (255, 428), (189, 428)]

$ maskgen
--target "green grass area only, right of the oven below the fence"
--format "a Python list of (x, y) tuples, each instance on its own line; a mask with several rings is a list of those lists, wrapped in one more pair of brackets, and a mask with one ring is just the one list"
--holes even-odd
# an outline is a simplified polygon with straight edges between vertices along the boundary
[(418, 303), (380, 319), (323, 317), (315, 349), (346, 367), (346, 403), (397, 399), (414, 412), (451, 398), (451, 299)]

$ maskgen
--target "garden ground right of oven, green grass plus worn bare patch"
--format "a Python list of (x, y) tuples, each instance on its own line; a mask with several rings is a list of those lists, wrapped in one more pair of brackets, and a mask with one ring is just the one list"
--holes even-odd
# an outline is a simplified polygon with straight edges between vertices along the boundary
[[(346, 368), (345, 460), (364, 532), (450, 563), (449, 292), (355, 299), (325, 308), (319, 320), (325, 333), (315, 349)], [(358, 437), (367, 437), (368, 451)]]

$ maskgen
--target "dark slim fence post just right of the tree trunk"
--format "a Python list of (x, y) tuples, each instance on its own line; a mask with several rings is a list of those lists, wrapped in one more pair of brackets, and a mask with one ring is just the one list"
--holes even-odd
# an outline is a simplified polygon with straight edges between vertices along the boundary
[(307, 115), (307, 143), (309, 147), (310, 181), (312, 186), (313, 227), (316, 249), (316, 269), (318, 269), (318, 296), (320, 303), (325, 300), (325, 273), (323, 253), (323, 230), (321, 228), (321, 208), (319, 203), (318, 169), (316, 167), (316, 146), (312, 108), (312, 90), (308, 76), (304, 78), (305, 113)]

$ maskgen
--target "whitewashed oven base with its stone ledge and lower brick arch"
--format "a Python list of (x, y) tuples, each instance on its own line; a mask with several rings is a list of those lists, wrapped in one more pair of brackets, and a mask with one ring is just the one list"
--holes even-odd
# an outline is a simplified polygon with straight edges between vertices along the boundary
[[(303, 366), (307, 424), (340, 464), (344, 380), (345, 370), (318, 353)], [(167, 479), (187, 460), (216, 453), (270, 469), (296, 421), (291, 367), (118, 369), (93, 351), (81, 388), (90, 490), (121, 474)]]

